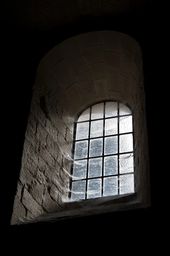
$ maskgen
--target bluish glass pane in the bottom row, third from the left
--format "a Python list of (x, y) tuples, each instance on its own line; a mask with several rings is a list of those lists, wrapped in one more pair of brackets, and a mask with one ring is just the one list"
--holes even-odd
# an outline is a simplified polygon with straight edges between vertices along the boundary
[(117, 176), (103, 180), (103, 196), (117, 195)]

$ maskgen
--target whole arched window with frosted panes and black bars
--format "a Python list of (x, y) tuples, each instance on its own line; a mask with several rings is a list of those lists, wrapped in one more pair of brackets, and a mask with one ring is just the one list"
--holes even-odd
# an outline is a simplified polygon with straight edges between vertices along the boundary
[(130, 109), (117, 102), (93, 105), (79, 116), (75, 133), (71, 199), (133, 193)]

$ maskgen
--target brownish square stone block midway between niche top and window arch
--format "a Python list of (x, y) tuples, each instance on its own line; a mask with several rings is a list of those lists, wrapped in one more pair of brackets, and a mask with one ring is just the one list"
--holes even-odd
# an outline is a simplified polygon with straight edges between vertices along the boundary
[(106, 79), (106, 73), (105, 73), (105, 63), (94, 63), (90, 65), (90, 73), (93, 81)]

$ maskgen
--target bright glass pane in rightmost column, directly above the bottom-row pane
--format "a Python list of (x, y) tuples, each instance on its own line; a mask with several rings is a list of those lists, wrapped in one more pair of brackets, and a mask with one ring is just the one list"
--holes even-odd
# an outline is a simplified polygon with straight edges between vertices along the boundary
[(119, 172), (127, 173), (127, 172), (133, 172), (133, 171), (134, 171), (133, 153), (119, 155)]

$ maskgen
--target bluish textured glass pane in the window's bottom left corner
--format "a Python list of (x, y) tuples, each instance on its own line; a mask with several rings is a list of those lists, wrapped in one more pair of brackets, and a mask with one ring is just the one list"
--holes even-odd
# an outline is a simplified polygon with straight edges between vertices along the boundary
[(85, 199), (85, 180), (74, 181), (71, 189), (71, 200)]

